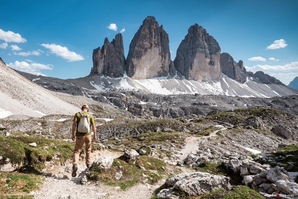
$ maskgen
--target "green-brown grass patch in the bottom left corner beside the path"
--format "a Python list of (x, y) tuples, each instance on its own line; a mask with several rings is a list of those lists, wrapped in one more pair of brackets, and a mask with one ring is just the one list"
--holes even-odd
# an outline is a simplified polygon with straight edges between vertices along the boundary
[(33, 198), (31, 191), (37, 190), (44, 178), (41, 175), (1, 173), (0, 198)]

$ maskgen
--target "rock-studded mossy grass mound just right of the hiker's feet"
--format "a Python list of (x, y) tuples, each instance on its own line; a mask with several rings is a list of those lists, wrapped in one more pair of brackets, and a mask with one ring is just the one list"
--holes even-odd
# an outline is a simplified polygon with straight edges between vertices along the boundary
[[(115, 175), (117, 172), (121, 171), (120, 166), (123, 167), (122, 177), (117, 180)], [(143, 166), (146, 170), (140, 169), (139, 166)], [(150, 172), (150, 170), (155, 170), (157, 173)], [(148, 156), (140, 156), (136, 165), (127, 163), (120, 157), (114, 159), (110, 169), (103, 170), (98, 169), (96, 166), (91, 166), (89, 171), (91, 173), (89, 180), (99, 181), (99, 183), (105, 183), (110, 186), (119, 186), (122, 190), (132, 187), (146, 179), (147, 183), (154, 184), (162, 179), (162, 175), (167, 174), (164, 161)]]

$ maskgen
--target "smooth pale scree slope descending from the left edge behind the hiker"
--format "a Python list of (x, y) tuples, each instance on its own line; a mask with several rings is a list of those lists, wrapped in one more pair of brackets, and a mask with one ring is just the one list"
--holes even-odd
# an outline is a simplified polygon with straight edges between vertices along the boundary
[(53, 113), (72, 115), (85, 103), (90, 104), (90, 110), (95, 113), (123, 112), (90, 98), (46, 90), (7, 67), (2, 60), (0, 60), (0, 92), (1, 118), (9, 115), (41, 117)]

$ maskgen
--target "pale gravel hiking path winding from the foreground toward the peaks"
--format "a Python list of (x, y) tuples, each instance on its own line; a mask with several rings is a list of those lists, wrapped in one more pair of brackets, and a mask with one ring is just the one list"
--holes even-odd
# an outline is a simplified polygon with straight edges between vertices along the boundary
[[(223, 128), (225, 129), (225, 128)], [(222, 129), (222, 130), (223, 130)], [(217, 131), (213, 132), (209, 136), (215, 136)], [(181, 150), (183, 157), (187, 154), (191, 154), (198, 149), (198, 140), (201, 138), (198, 137), (188, 137), (186, 139), (185, 148)], [(100, 157), (112, 157), (118, 158), (123, 152), (112, 152), (108, 150), (94, 152), (91, 156), (91, 161), (93, 162)], [(182, 158), (182, 156), (181, 156)], [(153, 192), (159, 187), (159, 185), (149, 185), (149, 184), (137, 184), (130, 189), (125, 191), (119, 189), (119, 187), (111, 187), (98, 183), (91, 183), (89, 185), (81, 185), (79, 180), (80, 174), (87, 169), (85, 161), (80, 161), (78, 165), (77, 177), (72, 178), (72, 163), (68, 163), (65, 166), (60, 165), (50, 165), (49, 169), (45, 172), (51, 172), (53, 175), (56, 175), (57, 178), (46, 178), (43, 185), (40, 187), (39, 191), (34, 193), (35, 199), (44, 199), (44, 198), (71, 198), (71, 199), (94, 199), (94, 198), (123, 198), (123, 199), (149, 199)], [(186, 167), (181, 167), (183, 172), (194, 172), (194, 170), (187, 169)], [(67, 176), (62, 179), (63, 176)]]

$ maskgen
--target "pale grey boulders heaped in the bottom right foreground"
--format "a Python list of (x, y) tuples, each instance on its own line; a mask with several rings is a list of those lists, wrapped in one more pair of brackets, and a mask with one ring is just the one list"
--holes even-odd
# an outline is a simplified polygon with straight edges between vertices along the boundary
[[(180, 154), (171, 155), (169, 159), (177, 159), (180, 156)], [(271, 156), (271, 153), (264, 152), (261, 155), (257, 156), (257, 159), (268, 160), (268, 156)], [(271, 168), (270, 165), (262, 165), (260, 163), (257, 163), (253, 160), (253, 158), (246, 155), (233, 154), (229, 151), (224, 152), (222, 155), (213, 155), (211, 153), (211, 150), (207, 149), (205, 152), (197, 151), (196, 155), (187, 155), (187, 157), (184, 158), (182, 161), (178, 160), (176, 161), (176, 163), (179, 166), (188, 165), (189, 167), (192, 167), (198, 166), (204, 161), (208, 160), (215, 163), (221, 162), (224, 166), (226, 166), (226, 168), (231, 169), (236, 174), (239, 174), (243, 178), (242, 183), (244, 185), (257, 190), (259, 193), (263, 193), (263, 196), (265, 197), (266, 195), (272, 194), (288, 194), (298, 196), (298, 184), (295, 183), (293, 179), (291, 179), (289, 173), (285, 170), (284, 167), (275, 166)], [(206, 189), (202, 188), (201, 185), (192, 185), (193, 183), (206, 184), (205, 177), (218, 179), (218, 176), (211, 176), (211, 174), (204, 174), (204, 178), (198, 178), (198, 175), (202, 176), (203, 174), (201, 174), (201, 172), (196, 172), (196, 174), (193, 175), (181, 174), (170, 178), (169, 180), (167, 180), (166, 184), (168, 186), (171, 186), (171, 188), (163, 189), (159, 193), (160, 198), (166, 198), (170, 196), (172, 197), (172, 189), (174, 188), (180, 189), (190, 195), (202, 194), (205, 193)], [(220, 178), (219, 181), (221, 181), (221, 185), (224, 186), (214, 186), (213, 190), (220, 188), (229, 190), (228, 179)], [(217, 185), (217, 183), (213, 184)]]

